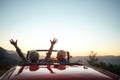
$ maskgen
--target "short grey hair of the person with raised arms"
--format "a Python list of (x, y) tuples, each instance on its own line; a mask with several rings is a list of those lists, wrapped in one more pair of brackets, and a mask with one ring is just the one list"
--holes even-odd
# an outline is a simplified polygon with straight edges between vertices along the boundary
[(39, 53), (37, 51), (30, 51), (29, 59), (31, 62), (36, 63), (39, 60)]

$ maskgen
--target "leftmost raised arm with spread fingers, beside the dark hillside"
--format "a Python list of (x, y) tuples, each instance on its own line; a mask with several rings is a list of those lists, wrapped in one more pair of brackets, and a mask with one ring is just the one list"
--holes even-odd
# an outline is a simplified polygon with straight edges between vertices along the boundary
[(27, 60), (25, 59), (23, 53), (21, 52), (20, 48), (17, 46), (17, 40), (14, 41), (13, 39), (10, 40), (10, 43), (16, 48), (16, 51), (18, 53), (18, 55), (20, 56), (20, 58), (22, 59), (23, 62), (27, 62)]

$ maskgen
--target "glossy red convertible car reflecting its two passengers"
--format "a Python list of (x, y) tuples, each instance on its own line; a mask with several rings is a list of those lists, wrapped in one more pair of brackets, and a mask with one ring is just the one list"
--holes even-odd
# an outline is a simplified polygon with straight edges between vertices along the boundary
[[(69, 52), (67, 55), (69, 60)], [(47, 64), (20, 63), (8, 70), (0, 80), (120, 80), (120, 76), (83, 64), (59, 64), (52, 58)]]

